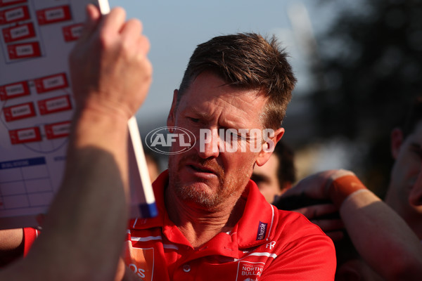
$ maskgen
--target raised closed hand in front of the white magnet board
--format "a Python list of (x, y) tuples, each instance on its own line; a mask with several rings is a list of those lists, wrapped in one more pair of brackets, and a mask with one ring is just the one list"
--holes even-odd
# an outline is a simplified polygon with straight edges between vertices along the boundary
[[(85, 39), (70, 55), (75, 100), (79, 108), (130, 118), (143, 103), (151, 85), (152, 66), (148, 39), (139, 20), (125, 21), (122, 8), (99, 18), (98, 9), (87, 8)], [(101, 103), (99, 102), (101, 101)]]

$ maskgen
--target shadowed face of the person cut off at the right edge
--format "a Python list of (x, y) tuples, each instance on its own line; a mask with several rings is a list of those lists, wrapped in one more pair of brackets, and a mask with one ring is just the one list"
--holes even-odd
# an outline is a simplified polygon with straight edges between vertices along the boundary
[[(385, 202), (404, 218), (411, 228), (422, 230), (422, 121), (407, 138), (399, 141), (395, 149), (395, 133), (392, 133), (392, 154), (395, 164), (392, 168), (390, 186)], [(418, 179), (419, 176), (419, 179)], [(416, 198), (418, 197), (418, 198)], [(422, 233), (419, 234), (421, 236)]]

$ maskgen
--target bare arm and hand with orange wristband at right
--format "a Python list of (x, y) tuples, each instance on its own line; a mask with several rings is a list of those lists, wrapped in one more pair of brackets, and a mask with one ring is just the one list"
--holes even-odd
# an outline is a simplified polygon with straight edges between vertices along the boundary
[(421, 242), (403, 219), (367, 190), (352, 172), (314, 174), (283, 196), (299, 194), (331, 199), (334, 203), (331, 207), (315, 205), (297, 211), (327, 231), (335, 229), (330, 220), (315, 218), (338, 210), (354, 247), (386, 280), (414, 280), (415, 276), (421, 276)]

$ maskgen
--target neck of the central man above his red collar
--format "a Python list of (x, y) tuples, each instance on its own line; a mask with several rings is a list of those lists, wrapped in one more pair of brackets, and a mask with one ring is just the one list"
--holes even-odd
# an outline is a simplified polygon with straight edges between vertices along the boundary
[(193, 248), (202, 246), (218, 233), (231, 231), (245, 207), (245, 200), (239, 198), (219, 204), (212, 210), (205, 209), (193, 202), (180, 200), (173, 191), (170, 188), (165, 190), (167, 214)]

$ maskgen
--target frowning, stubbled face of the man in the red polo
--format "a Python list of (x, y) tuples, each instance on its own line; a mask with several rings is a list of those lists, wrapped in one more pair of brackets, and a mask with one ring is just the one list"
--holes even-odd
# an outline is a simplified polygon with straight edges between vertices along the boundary
[[(169, 188), (174, 188), (179, 199), (205, 209), (236, 202), (257, 159), (267, 161), (268, 153), (250, 151), (248, 138), (245, 152), (221, 152), (224, 141), (218, 133), (212, 138), (220, 151), (212, 147), (212, 142), (204, 143), (202, 148), (200, 145), (200, 129), (262, 129), (260, 113), (267, 98), (257, 93), (225, 85), (215, 74), (203, 72), (186, 90), (179, 105), (173, 101), (167, 125), (188, 129), (196, 136), (193, 149), (170, 155)], [(234, 141), (240, 148), (242, 139)], [(179, 144), (174, 143), (172, 151), (179, 150)]]

